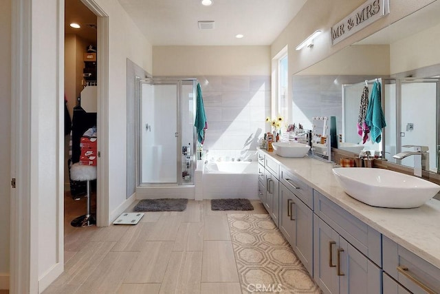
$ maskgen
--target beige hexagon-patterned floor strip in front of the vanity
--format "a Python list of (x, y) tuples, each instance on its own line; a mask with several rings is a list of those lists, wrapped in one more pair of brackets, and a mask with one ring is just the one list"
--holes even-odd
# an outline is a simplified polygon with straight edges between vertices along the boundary
[(321, 293), (292, 247), (267, 214), (228, 214), (241, 291)]

